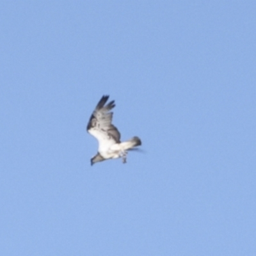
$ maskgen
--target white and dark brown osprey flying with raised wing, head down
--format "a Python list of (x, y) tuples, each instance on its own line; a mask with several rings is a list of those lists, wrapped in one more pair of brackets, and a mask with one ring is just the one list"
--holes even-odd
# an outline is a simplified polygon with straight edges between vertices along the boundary
[(102, 96), (87, 125), (87, 131), (99, 142), (98, 153), (92, 157), (91, 165), (118, 157), (122, 157), (123, 163), (126, 163), (127, 150), (141, 145), (137, 136), (128, 141), (120, 141), (120, 132), (111, 124), (113, 112), (109, 112), (115, 107), (115, 101), (106, 104), (108, 98), (107, 95)]

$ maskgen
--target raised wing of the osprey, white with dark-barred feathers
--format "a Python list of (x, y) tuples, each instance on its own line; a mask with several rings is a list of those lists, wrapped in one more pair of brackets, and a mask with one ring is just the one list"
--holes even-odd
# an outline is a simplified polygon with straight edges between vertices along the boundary
[(102, 96), (87, 125), (87, 131), (99, 141), (99, 152), (120, 143), (120, 132), (111, 124), (113, 112), (109, 112), (115, 107), (115, 101), (106, 104), (108, 98), (107, 95)]

